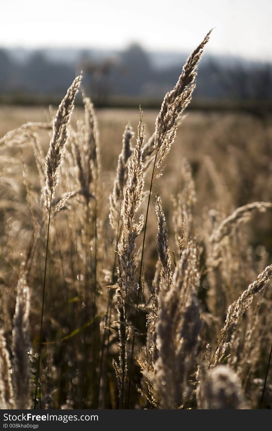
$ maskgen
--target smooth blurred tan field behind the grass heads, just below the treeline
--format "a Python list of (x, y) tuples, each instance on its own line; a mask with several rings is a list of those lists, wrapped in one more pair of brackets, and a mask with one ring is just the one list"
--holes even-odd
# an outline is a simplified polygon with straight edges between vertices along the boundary
[[(51, 107), (51, 112), (53, 111), (54, 108)], [(125, 125), (130, 122), (136, 131), (139, 110), (97, 109), (96, 113), (101, 163), (106, 179), (108, 174), (115, 175)], [(154, 131), (157, 113), (155, 109), (143, 112), (146, 139)], [(76, 108), (71, 124), (75, 125), (76, 119), (82, 114), (83, 109)], [(43, 107), (0, 106), (0, 136), (28, 121), (47, 121), (49, 117), (48, 109)], [(204, 202), (206, 196), (201, 193), (204, 187), (209, 188), (209, 202), (217, 201), (213, 173), (226, 184), (234, 206), (242, 205), (249, 200), (269, 199), (271, 180), (266, 174), (271, 170), (269, 163), (272, 151), (271, 119), (272, 116), (259, 118), (241, 112), (187, 113), (182, 117), (175, 144), (167, 159), (165, 168), (167, 175), (161, 181), (160, 187), (164, 189), (169, 186), (174, 193), (179, 190), (181, 181), (178, 175), (179, 164), (182, 157), (186, 157), (192, 163), (195, 179), (200, 177), (198, 187), (202, 188), (199, 198)], [(43, 135), (42, 144), (47, 151), (48, 134)], [(213, 169), (207, 167), (210, 162)], [(176, 175), (171, 175), (171, 172), (175, 172)]]

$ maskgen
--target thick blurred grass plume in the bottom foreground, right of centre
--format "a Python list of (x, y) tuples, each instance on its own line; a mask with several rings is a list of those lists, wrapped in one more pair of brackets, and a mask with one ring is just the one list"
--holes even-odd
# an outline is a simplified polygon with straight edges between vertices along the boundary
[(195, 250), (189, 246), (176, 266), (170, 289), (166, 280), (159, 294), (153, 293), (153, 312), (148, 319), (152, 362), (143, 367), (143, 374), (151, 385), (151, 398), (154, 394), (162, 409), (183, 406), (193, 391), (188, 377), (196, 371), (202, 326), (196, 297), (199, 282), (192, 282), (195, 274), (191, 274), (198, 271), (194, 260)]

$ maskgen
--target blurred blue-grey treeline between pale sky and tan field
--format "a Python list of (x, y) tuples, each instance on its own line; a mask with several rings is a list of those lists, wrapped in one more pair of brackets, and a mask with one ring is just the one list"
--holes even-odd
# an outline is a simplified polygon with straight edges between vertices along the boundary
[[(187, 54), (123, 51), (0, 49), (2, 103), (55, 103), (82, 69), (83, 87), (97, 106), (157, 106), (173, 87)], [(261, 102), (271, 107), (272, 64), (205, 55), (194, 100), (198, 103)]]

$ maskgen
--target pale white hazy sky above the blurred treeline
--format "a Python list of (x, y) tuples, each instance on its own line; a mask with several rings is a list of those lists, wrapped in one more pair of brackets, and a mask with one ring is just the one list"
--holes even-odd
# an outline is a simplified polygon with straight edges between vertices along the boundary
[(2, 0), (0, 46), (191, 51), (272, 60), (271, 0)]

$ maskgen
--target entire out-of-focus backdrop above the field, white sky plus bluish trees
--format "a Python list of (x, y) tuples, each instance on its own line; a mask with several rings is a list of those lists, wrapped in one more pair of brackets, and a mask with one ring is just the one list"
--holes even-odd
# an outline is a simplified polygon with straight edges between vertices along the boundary
[(82, 69), (96, 106), (158, 107), (215, 27), (192, 108), (271, 107), (269, 0), (4, 0), (3, 7), (1, 103), (58, 103)]

